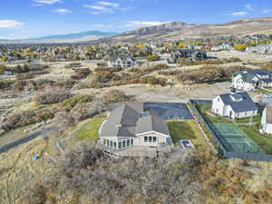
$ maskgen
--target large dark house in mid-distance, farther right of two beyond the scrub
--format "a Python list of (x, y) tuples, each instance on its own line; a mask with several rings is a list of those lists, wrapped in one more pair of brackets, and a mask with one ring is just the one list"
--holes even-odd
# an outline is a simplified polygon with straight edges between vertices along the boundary
[(206, 51), (199, 51), (195, 49), (176, 49), (173, 50), (168, 58), (169, 63), (177, 63), (180, 58), (190, 58), (192, 60), (205, 60), (207, 59)]

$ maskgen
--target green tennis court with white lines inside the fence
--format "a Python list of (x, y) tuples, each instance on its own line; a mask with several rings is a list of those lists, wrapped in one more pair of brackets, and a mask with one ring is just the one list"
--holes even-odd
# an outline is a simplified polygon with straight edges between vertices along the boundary
[(262, 153), (257, 144), (234, 123), (210, 123), (228, 151)]

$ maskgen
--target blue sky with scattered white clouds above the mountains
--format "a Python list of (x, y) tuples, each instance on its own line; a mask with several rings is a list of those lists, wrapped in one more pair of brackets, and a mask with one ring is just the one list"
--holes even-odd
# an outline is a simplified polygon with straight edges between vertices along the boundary
[(2, 0), (0, 39), (124, 32), (167, 22), (219, 24), (272, 16), (271, 0)]

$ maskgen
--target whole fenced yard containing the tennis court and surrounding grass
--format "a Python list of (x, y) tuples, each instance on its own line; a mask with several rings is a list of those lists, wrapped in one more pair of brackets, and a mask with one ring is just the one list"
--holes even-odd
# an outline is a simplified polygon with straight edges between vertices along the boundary
[(212, 141), (219, 146), (219, 151), (226, 158), (272, 161), (272, 138), (258, 132), (259, 124), (239, 125), (228, 118), (210, 114), (211, 104), (191, 103), (192, 110), (211, 133)]

